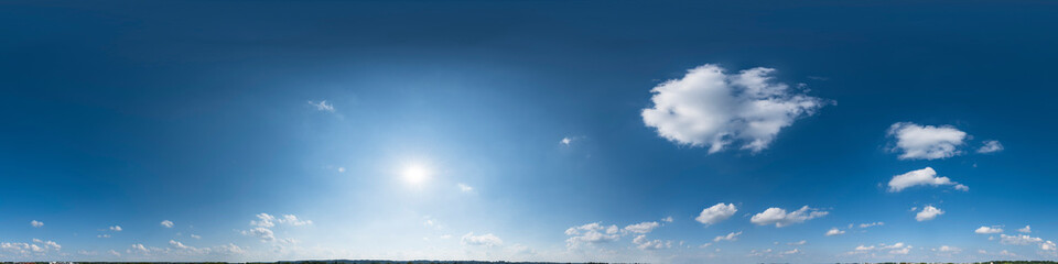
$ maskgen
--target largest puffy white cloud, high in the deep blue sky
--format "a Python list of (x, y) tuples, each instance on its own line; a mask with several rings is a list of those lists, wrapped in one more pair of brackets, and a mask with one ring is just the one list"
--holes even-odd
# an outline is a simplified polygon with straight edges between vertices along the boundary
[(759, 152), (779, 130), (827, 105), (771, 81), (773, 72), (757, 67), (728, 75), (716, 65), (695, 67), (650, 90), (654, 107), (643, 110), (643, 121), (669, 141), (708, 146), (710, 153), (736, 141)]

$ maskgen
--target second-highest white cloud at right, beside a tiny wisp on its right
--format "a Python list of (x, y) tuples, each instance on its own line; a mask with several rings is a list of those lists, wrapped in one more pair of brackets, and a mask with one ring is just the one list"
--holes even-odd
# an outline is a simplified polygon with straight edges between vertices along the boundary
[(894, 123), (889, 136), (896, 138), (900, 160), (937, 160), (961, 154), (958, 150), (967, 132), (951, 125), (919, 125), (911, 122)]

